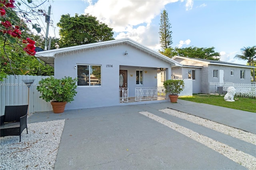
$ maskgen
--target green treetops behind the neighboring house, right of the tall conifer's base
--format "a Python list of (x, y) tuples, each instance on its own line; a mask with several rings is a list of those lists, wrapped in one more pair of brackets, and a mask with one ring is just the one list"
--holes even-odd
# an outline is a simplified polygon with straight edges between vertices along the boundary
[(167, 57), (173, 57), (175, 55), (181, 57), (191, 57), (191, 58), (200, 58), (200, 59), (211, 59), (211, 60), (220, 60), (218, 56), (220, 53), (214, 51), (214, 47), (210, 48), (199, 48), (199, 47), (186, 47), (186, 48), (167, 48), (164, 51), (159, 51)]

